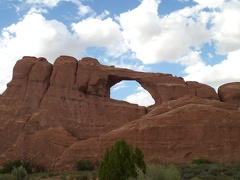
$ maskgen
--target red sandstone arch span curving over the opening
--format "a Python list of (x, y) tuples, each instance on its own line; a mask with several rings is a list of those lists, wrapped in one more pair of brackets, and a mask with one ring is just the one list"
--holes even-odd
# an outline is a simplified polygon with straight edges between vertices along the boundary
[(83, 58), (78, 63), (77, 88), (88, 95), (110, 98), (110, 88), (122, 80), (135, 80), (162, 104), (185, 95), (219, 99), (215, 90), (197, 82), (163, 73), (144, 73), (114, 66), (103, 66), (97, 59)]

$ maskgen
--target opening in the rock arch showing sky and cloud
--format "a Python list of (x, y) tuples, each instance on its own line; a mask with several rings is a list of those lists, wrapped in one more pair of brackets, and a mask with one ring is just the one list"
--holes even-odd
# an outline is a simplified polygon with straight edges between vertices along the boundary
[(146, 107), (155, 104), (151, 94), (136, 80), (121, 80), (113, 85), (110, 88), (110, 98)]

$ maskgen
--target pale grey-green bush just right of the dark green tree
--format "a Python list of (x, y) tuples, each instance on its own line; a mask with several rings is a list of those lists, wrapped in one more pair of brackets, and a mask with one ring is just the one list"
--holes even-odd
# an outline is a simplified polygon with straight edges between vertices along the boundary
[(137, 170), (137, 180), (179, 180), (180, 172), (175, 166), (148, 165), (146, 174), (140, 169)]

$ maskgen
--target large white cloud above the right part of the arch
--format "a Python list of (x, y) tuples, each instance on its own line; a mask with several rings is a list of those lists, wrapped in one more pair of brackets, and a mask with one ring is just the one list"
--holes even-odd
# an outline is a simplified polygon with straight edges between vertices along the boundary
[(119, 17), (125, 42), (144, 63), (176, 62), (191, 51), (190, 47), (198, 48), (210, 40), (211, 32), (202, 18), (187, 16), (199, 9), (186, 8), (164, 17), (157, 9), (158, 2), (143, 0), (136, 9)]

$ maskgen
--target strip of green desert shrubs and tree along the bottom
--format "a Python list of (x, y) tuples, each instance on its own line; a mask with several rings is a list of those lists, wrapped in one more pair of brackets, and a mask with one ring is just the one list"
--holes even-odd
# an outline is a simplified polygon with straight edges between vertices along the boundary
[(9, 161), (0, 168), (0, 180), (238, 180), (240, 164), (214, 164), (207, 159), (194, 159), (189, 165), (146, 164), (140, 148), (133, 150), (118, 140), (99, 166), (78, 160), (76, 171), (53, 172), (29, 160)]

